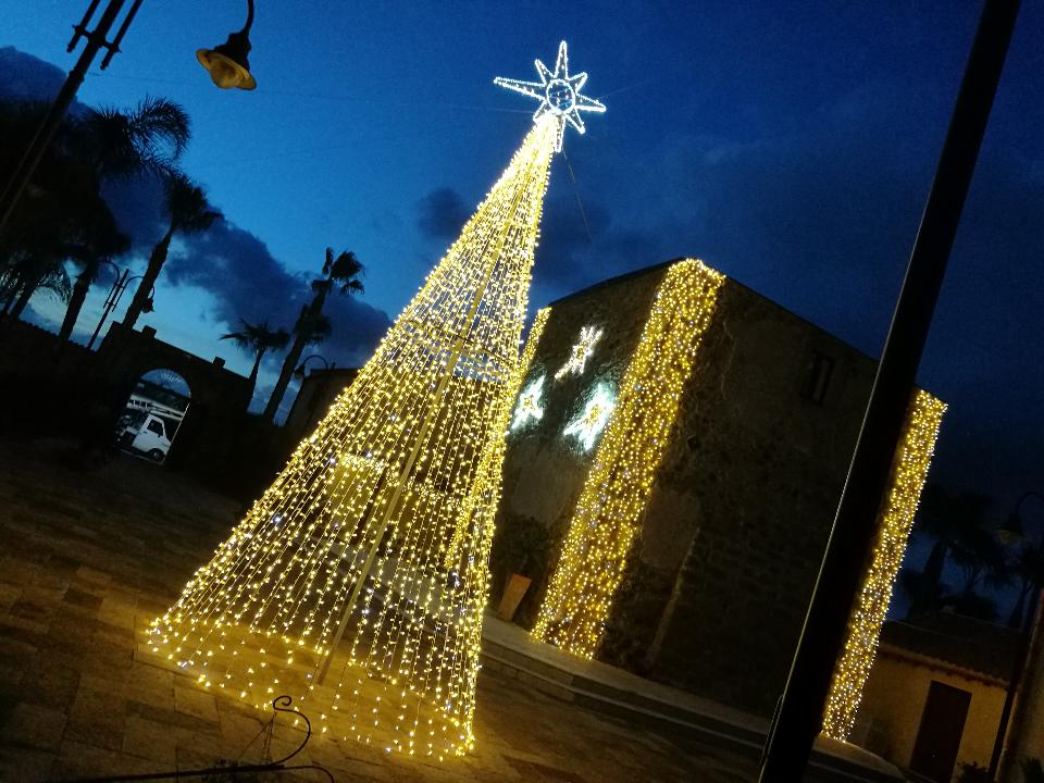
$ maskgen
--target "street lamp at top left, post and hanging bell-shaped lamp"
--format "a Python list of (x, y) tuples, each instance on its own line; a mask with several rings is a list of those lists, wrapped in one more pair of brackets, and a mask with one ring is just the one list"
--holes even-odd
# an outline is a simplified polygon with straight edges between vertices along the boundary
[[(62, 120), (65, 119), (65, 113), (76, 98), (76, 92), (84, 83), (84, 77), (87, 75), (91, 63), (94, 63), (98, 50), (107, 50), (105, 57), (102, 58), (101, 61), (101, 70), (104, 71), (109, 67), (109, 63), (112, 62), (112, 58), (120, 51), (120, 44), (123, 41), (127, 28), (138, 13), (138, 9), (141, 8), (144, 0), (132, 0), (130, 10), (127, 11), (123, 24), (120, 25), (115, 38), (111, 41), (108, 40), (109, 33), (113, 24), (115, 24), (120, 12), (123, 10), (126, 0), (109, 0), (105, 10), (102, 11), (101, 16), (98, 18), (97, 26), (92, 30), (89, 30), (87, 29), (87, 25), (90, 24), (100, 2), (101, 0), (90, 0), (83, 20), (80, 20), (78, 25), (73, 27), (73, 37), (69, 41), (65, 51), (73, 51), (80, 38), (87, 41), (84, 51), (80, 53), (73, 70), (69, 72), (65, 84), (62, 85), (58, 96), (54, 98), (54, 102), (51, 103), (47, 115), (40, 123), (40, 127), (37, 128), (36, 134), (29, 141), (29, 146), (25, 149), (25, 152), (22, 153), (18, 164), (11, 174), (11, 178), (8, 179), (3, 191), (0, 192), (0, 233), (2, 233), (7, 226), (18, 199), (22, 197), (22, 191), (25, 190), (25, 186), (29, 179), (33, 178), (33, 174), (36, 172), (40, 159), (50, 146), (51, 139), (54, 138), (54, 134), (59, 126), (61, 126)], [(214, 84), (219, 87), (240, 87), (241, 89), (253, 89), (257, 87), (257, 82), (254, 82), (253, 76), (250, 75), (246, 55), (246, 53), (250, 51), (250, 41), (247, 38), (247, 34), (252, 23), (253, 0), (247, 0), (246, 27), (239, 33), (233, 33), (228, 36), (228, 40), (224, 45), (216, 47), (212, 52), (209, 49), (200, 49), (196, 52), (196, 57), (199, 58), (203, 66), (211, 72), (211, 78), (213, 78)], [(209, 64), (211, 61), (213, 64)], [(216, 74), (215, 70), (217, 71)], [(233, 72), (234, 76), (229, 75), (229, 73)]]

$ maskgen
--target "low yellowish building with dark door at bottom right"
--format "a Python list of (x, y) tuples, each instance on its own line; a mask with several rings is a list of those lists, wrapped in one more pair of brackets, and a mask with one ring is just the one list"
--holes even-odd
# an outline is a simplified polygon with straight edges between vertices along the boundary
[(947, 612), (885, 623), (853, 742), (928, 780), (989, 767), (1017, 647), (1018, 631)]

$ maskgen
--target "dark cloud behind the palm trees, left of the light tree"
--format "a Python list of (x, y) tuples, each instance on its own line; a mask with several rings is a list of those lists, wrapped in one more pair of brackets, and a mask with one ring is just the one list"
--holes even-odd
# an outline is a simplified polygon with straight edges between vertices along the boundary
[[(164, 274), (174, 285), (208, 291), (214, 298), (213, 316), (229, 331), (240, 318), (289, 331), (312, 297), (310, 277), (291, 274), (257, 236), (223, 220), (208, 232), (183, 237)], [(334, 333), (322, 351), (341, 366), (365, 361), (390, 325), (382, 310), (336, 294), (324, 312)]]

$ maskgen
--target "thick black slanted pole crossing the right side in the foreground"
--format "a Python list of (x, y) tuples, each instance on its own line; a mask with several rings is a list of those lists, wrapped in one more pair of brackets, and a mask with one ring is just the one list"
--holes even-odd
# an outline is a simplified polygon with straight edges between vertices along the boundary
[(983, 8), (805, 627), (769, 733), (761, 783), (800, 781), (822, 725), (834, 664), (872, 546), (881, 498), (1018, 9), (1018, 0), (986, 0)]

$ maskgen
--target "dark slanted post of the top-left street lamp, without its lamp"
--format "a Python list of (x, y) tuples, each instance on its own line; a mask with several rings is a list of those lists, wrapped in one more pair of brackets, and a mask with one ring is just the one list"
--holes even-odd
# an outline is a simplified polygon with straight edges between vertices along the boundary
[[(98, 4), (97, 1), (92, 1), (87, 14), (84, 16), (84, 22), (77, 25), (76, 36), (73, 38), (70, 47), (75, 45), (76, 39), (80, 35), (86, 36), (87, 45), (76, 61), (76, 65), (69, 72), (65, 84), (63, 84), (62, 89), (59, 90), (58, 97), (54, 98), (54, 102), (47, 112), (47, 116), (45, 116), (44, 122), (40, 123), (39, 129), (23, 153), (22, 160), (18, 161), (18, 165), (11, 174), (11, 178), (3, 189), (3, 194), (0, 195), (0, 233), (3, 232), (8, 220), (11, 217), (11, 213), (14, 212), (14, 207), (22, 197), (22, 191), (25, 189), (25, 186), (33, 177), (36, 166), (39, 165), (40, 158), (44, 157), (44, 152), (47, 151), (48, 146), (51, 144), (54, 132), (58, 130), (58, 127), (62, 124), (62, 120), (65, 119), (65, 112), (69, 111), (69, 107), (72, 105), (73, 99), (76, 97), (76, 91), (84, 83), (84, 76), (87, 75), (87, 70), (94, 62), (95, 55), (101, 47), (105, 46), (105, 36), (109, 35), (113, 22), (116, 21), (116, 15), (120, 13), (120, 9), (123, 8), (124, 1), (125, 0), (109, 0), (109, 5), (101, 14), (101, 18), (98, 20), (98, 26), (95, 27), (92, 33), (87, 33), (84, 27), (94, 13), (95, 7)], [(72, 51), (72, 49), (70, 49), (70, 51)]]

